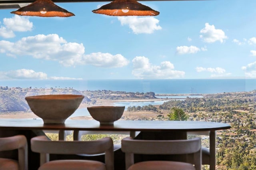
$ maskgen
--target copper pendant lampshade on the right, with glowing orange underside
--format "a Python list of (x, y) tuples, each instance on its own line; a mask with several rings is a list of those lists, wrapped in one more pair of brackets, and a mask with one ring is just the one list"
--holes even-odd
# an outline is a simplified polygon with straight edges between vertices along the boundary
[(158, 11), (136, 0), (114, 0), (92, 12), (109, 16), (157, 16), (159, 14)]

